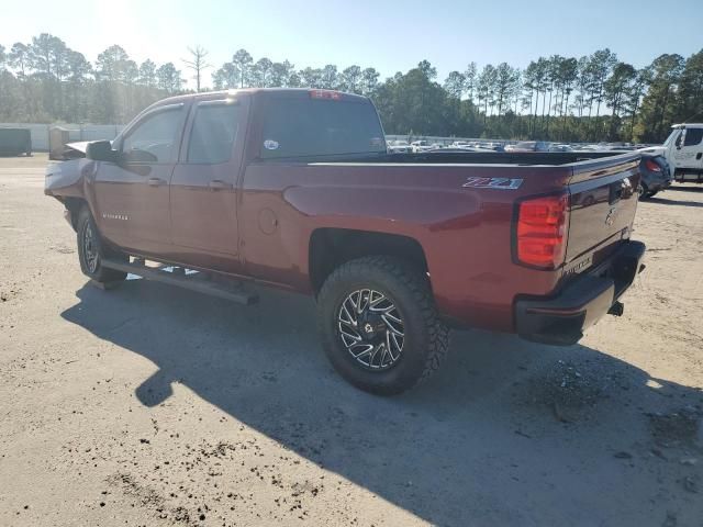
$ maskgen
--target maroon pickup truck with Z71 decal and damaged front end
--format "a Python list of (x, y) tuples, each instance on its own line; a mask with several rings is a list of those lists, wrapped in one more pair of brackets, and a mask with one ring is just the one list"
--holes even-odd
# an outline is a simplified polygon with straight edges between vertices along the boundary
[(636, 153), (389, 154), (368, 99), (300, 89), (167, 99), (75, 148), (45, 192), (83, 273), (314, 295), (330, 360), (373, 393), (427, 378), (449, 327), (573, 344), (644, 268)]

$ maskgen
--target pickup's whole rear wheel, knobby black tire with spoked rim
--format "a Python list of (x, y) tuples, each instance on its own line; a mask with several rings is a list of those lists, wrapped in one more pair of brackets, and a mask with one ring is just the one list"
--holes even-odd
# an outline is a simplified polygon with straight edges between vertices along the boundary
[(337, 268), (317, 296), (317, 321), (337, 372), (378, 395), (423, 382), (449, 348), (426, 273), (393, 257), (370, 256)]

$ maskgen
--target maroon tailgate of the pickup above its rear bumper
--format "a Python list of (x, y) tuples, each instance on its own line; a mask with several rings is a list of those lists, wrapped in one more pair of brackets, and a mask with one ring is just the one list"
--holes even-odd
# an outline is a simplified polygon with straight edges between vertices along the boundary
[(637, 210), (639, 155), (573, 165), (565, 272), (580, 272), (606, 258), (632, 233)]

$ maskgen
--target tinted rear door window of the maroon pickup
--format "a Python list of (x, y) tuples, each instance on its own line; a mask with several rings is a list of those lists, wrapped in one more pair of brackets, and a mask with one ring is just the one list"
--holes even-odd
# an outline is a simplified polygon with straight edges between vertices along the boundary
[(188, 162), (214, 165), (232, 157), (239, 127), (238, 104), (199, 104), (188, 142)]

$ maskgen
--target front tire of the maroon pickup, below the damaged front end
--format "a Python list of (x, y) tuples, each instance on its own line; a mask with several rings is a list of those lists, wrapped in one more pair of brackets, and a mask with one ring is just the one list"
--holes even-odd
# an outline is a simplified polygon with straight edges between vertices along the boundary
[(98, 226), (87, 206), (78, 213), (76, 225), (76, 239), (78, 244), (78, 260), (80, 270), (91, 280), (100, 283), (120, 282), (126, 278), (126, 273), (108, 269), (102, 266), (104, 257), (127, 261), (129, 257), (121, 253), (108, 249), (100, 238)]

